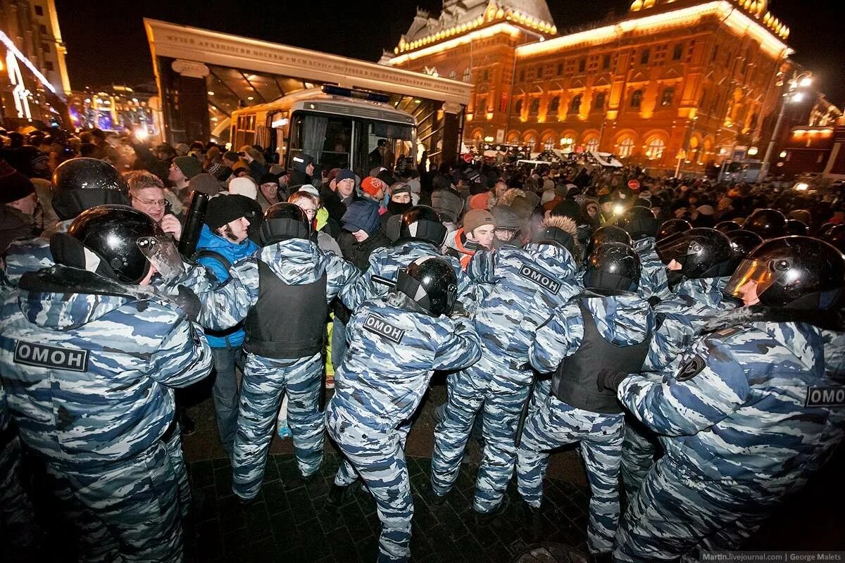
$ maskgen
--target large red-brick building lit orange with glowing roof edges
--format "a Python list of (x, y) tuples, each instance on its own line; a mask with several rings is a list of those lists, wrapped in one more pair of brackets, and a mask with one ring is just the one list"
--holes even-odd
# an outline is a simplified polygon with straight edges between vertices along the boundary
[(545, 2), (444, 0), (439, 19), (417, 11), (381, 63), (472, 83), (467, 145), (601, 150), (703, 171), (767, 142), (788, 35), (766, 0), (635, 0), (564, 35)]

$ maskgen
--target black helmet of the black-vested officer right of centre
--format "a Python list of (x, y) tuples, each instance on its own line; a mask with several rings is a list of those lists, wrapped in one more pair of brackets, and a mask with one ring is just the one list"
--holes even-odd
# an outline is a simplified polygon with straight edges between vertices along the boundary
[(623, 242), (597, 246), (587, 258), (584, 288), (602, 295), (636, 291), (640, 285), (640, 256)]

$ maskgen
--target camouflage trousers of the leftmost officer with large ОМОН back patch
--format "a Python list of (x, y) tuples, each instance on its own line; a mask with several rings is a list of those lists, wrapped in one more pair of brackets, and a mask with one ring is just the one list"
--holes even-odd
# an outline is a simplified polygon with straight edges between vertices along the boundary
[(179, 483), (171, 460), (160, 442), (138, 457), (85, 471), (46, 464), (49, 490), (78, 530), (80, 560), (182, 561)]

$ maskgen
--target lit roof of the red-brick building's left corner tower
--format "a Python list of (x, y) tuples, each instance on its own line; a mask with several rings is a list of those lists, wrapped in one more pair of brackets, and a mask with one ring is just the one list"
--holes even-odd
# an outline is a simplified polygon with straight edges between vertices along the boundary
[(393, 52), (398, 55), (433, 45), (455, 35), (487, 26), (509, 22), (541, 35), (552, 36), (558, 32), (552, 21), (548, 5), (535, 0), (444, 0), (439, 19), (417, 9), (417, 15)]

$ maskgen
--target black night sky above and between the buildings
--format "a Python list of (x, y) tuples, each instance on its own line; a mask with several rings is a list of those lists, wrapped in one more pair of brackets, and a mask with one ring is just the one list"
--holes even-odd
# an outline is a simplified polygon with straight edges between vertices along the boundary
[[(273, 4), (278, 7), (272, 8)], [(837, 4), (770, 0), (769, 9), (792, 30), (788, 44), (796, 51), (793, 58), (815, 72), (822, 91), (842, 108), (845, 34), (842, 18), (832, 13), (832, 6)], [(560, 31), (602, 19), (611, 9), (622, 14), (630, 0), (548, 0), (548, 5)], [(337, 6), (323, 0), (225, 3), (56, 0), (74, 89), (99, 88), (112, 83), (137, 85), (153, 80), (144, 17), (375, 62), (383, 48), (393, 49), (411, 24), (417, 6), (436, 15), (442, 2), (352, 0)]]

